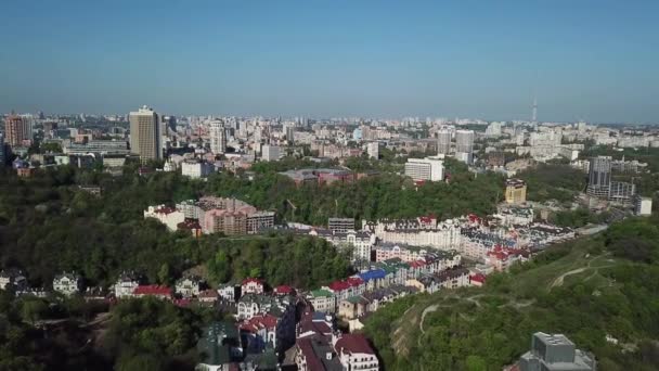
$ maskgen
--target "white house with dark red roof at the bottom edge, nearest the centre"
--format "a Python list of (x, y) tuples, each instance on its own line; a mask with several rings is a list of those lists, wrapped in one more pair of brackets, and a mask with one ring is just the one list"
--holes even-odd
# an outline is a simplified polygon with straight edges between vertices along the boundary
[(379, 370), (379, 361), (364, 335), (345, 334), (334, 341), (334, 349), (344, 370)]

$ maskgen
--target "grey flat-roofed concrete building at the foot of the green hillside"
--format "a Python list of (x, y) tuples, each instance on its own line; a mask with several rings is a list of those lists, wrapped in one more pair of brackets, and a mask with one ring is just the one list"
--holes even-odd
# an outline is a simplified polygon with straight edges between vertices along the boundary
[(576, 349), (574, 343), (561, 334), (537, 332), (531, 350), (517, 362), (520, 371), (595, 371), (595, 358)]

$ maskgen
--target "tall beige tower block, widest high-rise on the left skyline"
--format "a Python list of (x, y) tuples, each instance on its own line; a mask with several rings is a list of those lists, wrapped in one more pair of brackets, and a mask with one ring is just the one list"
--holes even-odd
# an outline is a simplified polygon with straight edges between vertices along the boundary
[(142, 162), (163, 159), (158, 114), (144, 105), (138, 112), (130, 113), (129, 121), (130, 151), (140, 155)]

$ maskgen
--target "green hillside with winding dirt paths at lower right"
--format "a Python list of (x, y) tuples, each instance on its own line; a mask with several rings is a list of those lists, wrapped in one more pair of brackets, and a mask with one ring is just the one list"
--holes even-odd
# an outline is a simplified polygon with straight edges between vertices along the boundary
[(387, 370), (501, 370), (535, 331), (565, 333), (602, 370), (657, 370), (658, 225), (630, 219), (490, 276), (483, 287), (395, 303), (369, 319), (366, 334)]

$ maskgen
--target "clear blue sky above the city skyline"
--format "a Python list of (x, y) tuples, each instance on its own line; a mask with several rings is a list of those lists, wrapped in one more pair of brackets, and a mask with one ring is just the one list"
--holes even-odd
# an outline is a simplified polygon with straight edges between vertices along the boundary
[(659, 123), (659, 1), (1, 1), (0, 112)]

